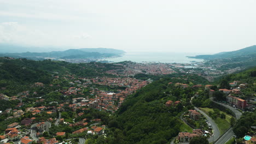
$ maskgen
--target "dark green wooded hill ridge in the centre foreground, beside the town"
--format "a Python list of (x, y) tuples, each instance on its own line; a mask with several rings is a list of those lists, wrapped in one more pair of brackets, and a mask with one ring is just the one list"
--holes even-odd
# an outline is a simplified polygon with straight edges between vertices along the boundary
[[(170, 143), (172, 137), (185, 127), (179, 115), (193, 108), (189, 103), (195, 94), (192, 86), (200, 83), (193, 77), (185, 75), (160, 79), (126, 98), (117, 117), (109, 122), (114, 131), (113, 143)], [(177, 82), (187, 83), (189, 87), (175, 86)], [(181, 103), (167, 107), (167, 100)]]

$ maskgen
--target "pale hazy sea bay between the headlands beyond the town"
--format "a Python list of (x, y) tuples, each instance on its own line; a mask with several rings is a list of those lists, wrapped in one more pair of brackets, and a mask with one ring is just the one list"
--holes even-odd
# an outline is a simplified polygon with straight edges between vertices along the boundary
[(187, 56), (203, 55), (205, 53), (183, 53), (183, 52), (129, 52), (122, 57), (102, 59), (110, 62), (132, 61), (138, 63), (160, 62), (160, 63), (191, 63), (191, 61), (202, 62), (203, 59), (188, 58)]

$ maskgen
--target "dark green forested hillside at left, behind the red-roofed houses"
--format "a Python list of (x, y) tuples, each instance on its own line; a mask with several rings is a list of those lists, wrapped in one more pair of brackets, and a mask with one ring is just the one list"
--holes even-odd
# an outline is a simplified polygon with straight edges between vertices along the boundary
[(75, 75), (81, 77), (97, 77), (113, 75), (105, 73), (107, 70), (120, 69), (120, 65), (107, 63), (67, 63), (63, 61), (33, 61), (25, 58), (13, 59), (0, 57), (0, 87), (8, 95), (25, 91), (34, 82), (50, 84), (54, 74)]

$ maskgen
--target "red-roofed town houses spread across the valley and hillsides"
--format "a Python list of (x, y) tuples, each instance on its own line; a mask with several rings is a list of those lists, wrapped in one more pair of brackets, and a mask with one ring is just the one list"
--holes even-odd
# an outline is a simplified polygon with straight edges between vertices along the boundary
[[(117, 67), (122, 67), (121, 70)], [(133, 77), (143, 73), (150, 75), (176, 74), (168, 82), (173, 89), (194, 89), (193, 98), (199, 100), (199, 92), (206, 92), (213, 100), (235, 107), (240, 111), (255, 110), (255, 95), (247, 97), (251, 84), (244, 81), (229, 81), (227, 87), (219, 84), (194, 85), (189, 81), (186, 65), (179, 64), (117, 64), (112, 70), (106, 70), (112, 76), (82, 77), (74, 74), (51, 75), (52, 83), (34, 82), (26, 91), (15, 95), (0, 94), (0, 100), (11, 103), (0, 111), (1, 143), (83, 143), (85, 137), (91, 139), (94, 135), (108, 137), (109, 117), (119, 110), (127, 97), (146, 87), (153, 80), (140, 80)], [(187, 65), (189, 66), (189, 65)], [(191, 66), (191, 65), (190, 65)], [(97, 64), (104, 69), (104, 65)], [(181, 75), (181, 77), (177, 76)], [(196, 72), (194, 73), (196, 75)], [(186, 78), (187, 77), (187, 78)], [(190, 81), (194, 81), (191, 80)], [(1, 91), (6, 91), (1, 87)], [(190, 90), (189, 90), (190, 91)], [(250, 91), (251, 92), (251, 91)], [(220, 95), (219, 95), (220, 93)], [(166, 93), (168, 95), (168, 93)], [(253, 95), (254, 93), (250, 93)], [(187, 99), (188, 100), (188, 99)], [(167, 100), (165, 107), (180, 107), (188, 103), (186, 99)], [(193, 101), (194, 103), (194, 101)], [(211, 137), (214, 133), (207, 119), (194, 109), (189, 109), (182, 117), (187, 125), (193, 128), (191, 132), (180, 131), (177, 142), (189, 142), (195, 136)], [(91, 137), (91, 138), (90, 138)]]

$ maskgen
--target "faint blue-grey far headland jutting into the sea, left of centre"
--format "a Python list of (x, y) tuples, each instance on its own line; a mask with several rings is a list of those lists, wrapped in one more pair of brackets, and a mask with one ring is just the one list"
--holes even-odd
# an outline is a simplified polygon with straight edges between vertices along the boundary
[(117, 50), (117, 49), (107, 49), (107, 48), (84, 48), (84, 49), (79, 49), (85, 52), (98, 52), (98, 53), (115, 53), (118, 55), (121, 55), (125, 53), (123, 50)]

